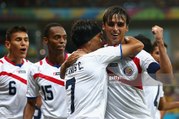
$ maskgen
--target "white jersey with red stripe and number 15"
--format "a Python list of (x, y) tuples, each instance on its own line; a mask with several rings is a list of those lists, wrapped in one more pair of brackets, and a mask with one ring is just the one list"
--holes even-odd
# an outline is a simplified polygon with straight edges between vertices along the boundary
[(60, 66), (53, 66), (47, 58), (35, 63), (30, 71), (27, 89), (28, 98), (35, 98), (40, 92), (44, 119), (67, 118), (66, 93), (64, 79), (60, 78)]

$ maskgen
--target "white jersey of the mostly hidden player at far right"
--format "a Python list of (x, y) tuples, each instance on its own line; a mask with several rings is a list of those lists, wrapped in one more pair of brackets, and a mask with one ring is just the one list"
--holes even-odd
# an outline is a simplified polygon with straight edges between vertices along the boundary
[(158, 106), (160, 98), (164, 97), (163, 84), (151, 78), (147, 72), (144, 74), (144, 94), (147, 107), (150, 109), (153, 119), (160, 119)]

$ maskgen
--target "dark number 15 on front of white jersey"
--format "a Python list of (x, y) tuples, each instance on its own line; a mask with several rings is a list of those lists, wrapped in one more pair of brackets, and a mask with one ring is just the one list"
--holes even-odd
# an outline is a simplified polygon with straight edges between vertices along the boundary
[(41, 86), (41, 88), (42, 88), (42, 92), (44, 94), (44, 99), (45, 100), (53, 100), (52, 86), (46, 85), (46, 86)]

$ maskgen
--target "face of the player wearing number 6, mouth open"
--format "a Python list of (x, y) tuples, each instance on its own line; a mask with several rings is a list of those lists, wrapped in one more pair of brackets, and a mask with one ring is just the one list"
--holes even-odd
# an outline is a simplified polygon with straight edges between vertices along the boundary
[(5, 42), (9, 57), (13, 60), (25, 58), (29, 48), (29, 37), (25, 32), (13, 33), (11, 39)]

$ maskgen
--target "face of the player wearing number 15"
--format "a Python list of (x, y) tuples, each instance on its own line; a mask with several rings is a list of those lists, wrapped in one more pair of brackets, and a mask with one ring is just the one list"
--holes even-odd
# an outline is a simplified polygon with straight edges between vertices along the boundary
[(51, 27), (46, 43), (50, 52), (55, 54), (64, 53), (67, 44), (67, 34), (64, 28), (59, 26)]

